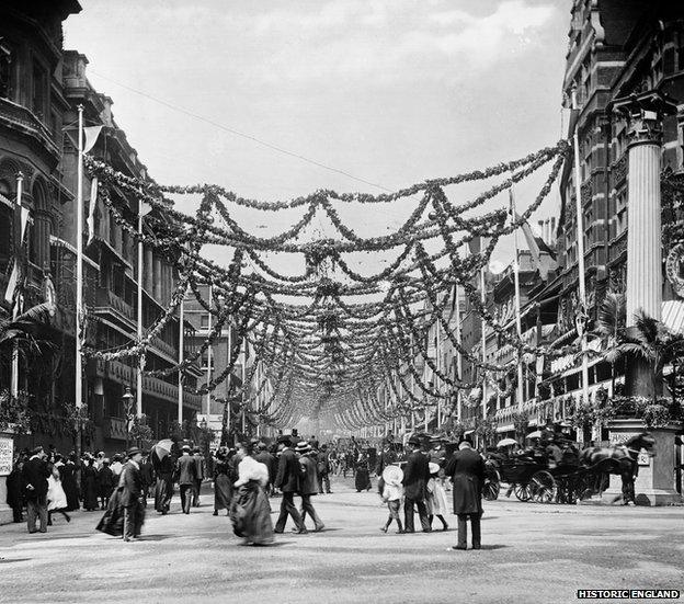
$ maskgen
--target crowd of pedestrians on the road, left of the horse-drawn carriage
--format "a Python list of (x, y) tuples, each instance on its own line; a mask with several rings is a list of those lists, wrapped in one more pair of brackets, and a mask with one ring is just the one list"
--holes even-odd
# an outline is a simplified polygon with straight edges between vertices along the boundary
[[(319, 445), (315, 436), (300, 440), (293, 430), (290, 435), (280, 434), (271, 445), (251, 440), (232, 448), (221, 446), (207, 459), (200, 448), (179, 445), (178, 440), (166, 443), (166, 448), (160, 448), (160, 443), (151, 452), (132, 447), (111, 459), (102, 452), (84, 453), (80, 458), (75, 453), (62, 456), (52, 446), (47, 452), (39, 446), (21, 452), (8, 477), (8, 503), (14, 521), (23, 522), (25, 509), (29, 532), (45, 533), (55, 514), (69, 522), (69, 512), (81, 506), (104, 510), (98, 529), (132, 542), (140, 536), (152, 488), (155, 510), (166, 515), (178, 483), (181, 510), (190, 514), (200, 505), (203, 480), (212, 477), (214, 515), (225, 510), (233, 533), (246, 544), (269, 545), (274, 534), (284, 533), (289, 518), (297, 534), (309, 532), (307, 520), (312, 531), (323, 531), (312, 497), (331, 493), (330, 477), (350, 471), (357, 492), (371, 490), (373, 467), (378, 494), (388, 509), (380, 531), (387, 533), (394, 522), (397, 533), (414, 533), (415, 513), (423, 532), (433, 531), (435, 517), (442, 531), (447, 531), (446, 491), (452, 490), (453, 512), (458, 517), (454, 549), (466, 549), (468, 521), (472, 548), (481, 547), (485, 460), (467, 440), (448, 459), (440, 441), (418, 435), (411, 436), (406, 447), (386, 438), (376, 454), (353, 437), (345, 446)], [(271, 500), (276, 497), (280, 511), (273, 523)]]

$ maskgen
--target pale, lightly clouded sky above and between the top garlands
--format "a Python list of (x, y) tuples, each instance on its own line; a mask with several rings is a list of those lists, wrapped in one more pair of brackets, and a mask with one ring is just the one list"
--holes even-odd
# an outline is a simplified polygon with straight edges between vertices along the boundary
[[(65, 47), (88, 57), (158, 182), (264, 201), (380, 193), (561, 137), (570, 0), (80, 1)], [(518, 210), (533, 194), (521, 186)], [(412, 209), (363, 208), (343, 217), (366, 236)], [(296, 219), (239, 212), (258, 235)], [(504, 241), (497, 262), (510, 253)]]

